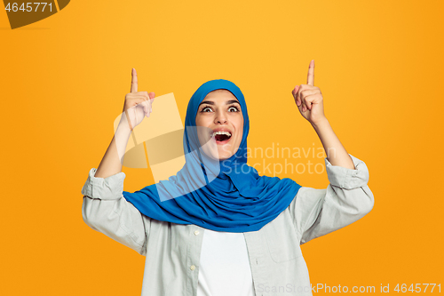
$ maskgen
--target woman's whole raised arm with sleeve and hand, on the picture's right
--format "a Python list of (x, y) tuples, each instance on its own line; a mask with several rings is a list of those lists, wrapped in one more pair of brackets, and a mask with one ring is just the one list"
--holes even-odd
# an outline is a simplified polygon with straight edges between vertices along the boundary
[(322, 142), (330, 184), (326, 189), (300, 188), (289, 205), (301, 244), (361, 219), (374, 204), (367, 185), (367, 165), (347, 153), (324, 115), (321, 90), (313, 84), (314, 60), (308, 68), (307, 84), (297, 85), (292, 94), (299, 112)]

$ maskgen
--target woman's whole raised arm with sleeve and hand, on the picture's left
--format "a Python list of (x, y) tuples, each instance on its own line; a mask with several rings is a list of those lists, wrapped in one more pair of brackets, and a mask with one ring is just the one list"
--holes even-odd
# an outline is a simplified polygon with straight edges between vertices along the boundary
[(151, 219), (141, 214), (123, 197), (123, 156), (133, 127), (151, 113), (154, 92), (138, 92), (138, 79), (132, 69), (131, 92), (125, 96), (123, 114), (113, 140), (98, 170), (92, 168), (82, 188), (83, 221), (92, 229), (131, 249), (146, 254)]

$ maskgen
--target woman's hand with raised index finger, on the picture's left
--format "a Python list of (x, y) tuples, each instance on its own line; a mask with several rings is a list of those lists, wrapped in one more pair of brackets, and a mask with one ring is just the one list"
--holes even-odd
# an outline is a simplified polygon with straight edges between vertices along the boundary
[(132, 131), (145, 116), (152, 112), (151, 104), (155, 100), (155, 92), (138, 92), (138, 75), (135, 68), (131, 72), (131, 92), (125, 95), (123, 113), (120, 124), (129, 124)]

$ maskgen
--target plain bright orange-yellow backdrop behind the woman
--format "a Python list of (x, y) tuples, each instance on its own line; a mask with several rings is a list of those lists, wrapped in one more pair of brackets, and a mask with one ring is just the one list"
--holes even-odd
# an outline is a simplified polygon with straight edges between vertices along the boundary
[[(312, 284), (444, 284), (442, 11), (405, 0), (72, 1), (14, 30), (0, 12), (0, 294), (140, 294), (145, 257), (81, 212), (131, 68), (139, 91), (174, 92), (182, 121), (202, 83), (233, 81), (249, 146), (309, 148), (321, 141), (291, 90), (312, 59), (325, 114), (368, 165), (375, 196), (362, 220), (302, 246)], [(126, 191), (152, 182), (148, 169), (123, 172)], [(280, 177), (329, 184), (325, 172)]]

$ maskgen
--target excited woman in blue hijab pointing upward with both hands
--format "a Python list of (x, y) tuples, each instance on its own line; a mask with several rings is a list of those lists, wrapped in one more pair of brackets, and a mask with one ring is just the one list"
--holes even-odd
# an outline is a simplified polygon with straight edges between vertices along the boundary
[(242, 92), (218, 79), (188, 103), (184, 167), (130, 193), (119, 155), (155, 98), (138, 92), (133, 69), (121, 124), (83, 186), (82, 212), (91, 228), (147, 256), (143, 296), (312, 294), (299, 245), (361, 219), (374, 202), (366, 164), (345, 151), (324, 116), (313, 70), (312, 60), (307, 84), (292, 94), (327, 153), (328, 188), (259, 176), (247, 164)]

